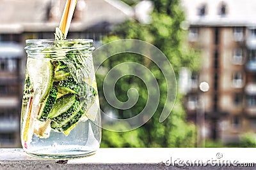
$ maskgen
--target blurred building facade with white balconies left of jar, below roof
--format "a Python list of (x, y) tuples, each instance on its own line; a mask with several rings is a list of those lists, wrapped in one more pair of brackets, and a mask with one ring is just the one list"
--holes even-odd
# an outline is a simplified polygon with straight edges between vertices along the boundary
[(21, 66), (24, 55), (16, 42), (0, 42), (0, 147), (19, 146), (22, 96)]

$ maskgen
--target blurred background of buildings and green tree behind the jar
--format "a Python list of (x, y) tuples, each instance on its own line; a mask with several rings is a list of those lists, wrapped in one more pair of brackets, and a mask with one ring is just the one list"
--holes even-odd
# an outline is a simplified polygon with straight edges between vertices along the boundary
[[(19, 148), (25, 40), (54, 38), (65, 1), (0, 4), (0, 148)], [(143, 81), (125, 76), (117, 81), (115, 94), (126, 101), (127, 90), (134, 87), (140, 93), (138, 103), (129, 110), (109, 106), (102, 72), (117, 64), (147, 66), (163, 96), (154, 116), (140, 128), (103, 129), (101, 147), (256, 146), (255, 8), (256, 1), (249, 0), (77, 0), (68, 38), (93, 39), (96, 48), (116, 39), (147, 41), (168, 57), (177, 77), (175, 106), (160, 123), (167, 90), (161, 70), (139, 55), (119, 54), (104, 62), (96, 77), (100, 108), (111, 117), (133, 117), (147, 103)]]

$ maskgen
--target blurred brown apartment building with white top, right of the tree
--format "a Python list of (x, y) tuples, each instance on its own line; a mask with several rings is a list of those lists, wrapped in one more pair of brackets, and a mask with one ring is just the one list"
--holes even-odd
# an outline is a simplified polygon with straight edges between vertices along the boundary
[(200, 73), (182, 71), (188, 118), (197, 124), (204, 118), (203, 138), (235, 143), (245, 132), (256, 132), (256, 1), (181, 4), (188, 41), (202, 54)]

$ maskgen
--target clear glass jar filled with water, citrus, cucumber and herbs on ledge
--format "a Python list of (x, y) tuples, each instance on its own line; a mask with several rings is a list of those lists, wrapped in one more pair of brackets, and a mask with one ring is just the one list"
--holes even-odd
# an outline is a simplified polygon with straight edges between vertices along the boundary
[(26, 40), (21, 141), (26, 153), (62, 159), (100, 146), (100, 109), (91, 39)]

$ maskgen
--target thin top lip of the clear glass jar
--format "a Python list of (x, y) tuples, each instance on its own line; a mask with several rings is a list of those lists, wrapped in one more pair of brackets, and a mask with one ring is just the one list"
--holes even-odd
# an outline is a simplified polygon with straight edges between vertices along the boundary
[(26, 43), (35, 43), (35, 42), (44, 42), (44, 43), (52, 43), (52, 42), (71, 42), (71, 41), (78, 41), (84, 43), (93, 43), (93, 39), (83, 39), (83, 38), (71, 38), (71, 39), (64, 39), (64, 40), (55, 40), (55, 39), (26, 39)]

